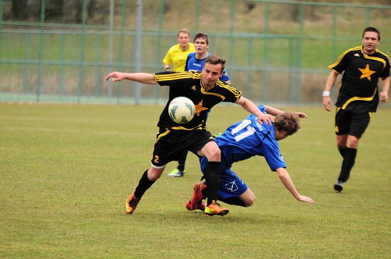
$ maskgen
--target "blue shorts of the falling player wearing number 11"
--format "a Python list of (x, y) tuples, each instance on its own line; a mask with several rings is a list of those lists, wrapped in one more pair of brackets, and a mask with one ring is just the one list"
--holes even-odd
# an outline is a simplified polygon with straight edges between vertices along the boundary
[[(199, 159), (202, 174), (208, 163), (208, 159), (202, 157)], [(223, 165), (223, 163), (221, 163)], [(224, 169), (221, 167), (220, 184), (218, 186), (218, 199), (227, 199), (239, 197), (248, 189), (246, 183), (240, 179), (231, 168)]]

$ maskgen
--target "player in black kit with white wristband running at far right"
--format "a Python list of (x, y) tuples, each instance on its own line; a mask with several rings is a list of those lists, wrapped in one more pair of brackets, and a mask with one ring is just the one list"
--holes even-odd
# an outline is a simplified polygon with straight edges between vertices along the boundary
[(334, 64), (323, 92), (323, 104), (331, 110), (330, 91), (339, 74), (342, 76), (335, 114), (335, 133), (338, 150), (343, 157), (341, 172), (334, 184), (334, 190), (341, 192), (349, 179), (350, 170), (357, 155), (358, 142), (369, 124), (372, 112), (379, 104), (377, 82), (383, 80), (380, 100), (388, 100), (390, 88), (390, 60), (378, 49), (380, 32), (368, 27), (363, 33), (363, 45), (345, 51)]

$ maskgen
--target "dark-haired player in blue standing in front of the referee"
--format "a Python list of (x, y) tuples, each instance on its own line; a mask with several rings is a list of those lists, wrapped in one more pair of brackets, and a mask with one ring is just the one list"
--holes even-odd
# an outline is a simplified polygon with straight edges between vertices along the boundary
[[(185, 71), (193, 71), (193, 70), (202, 71), (206, 58), (210, 56), (210, 54), (208, 53), (209, 36), (206, 35), (205, 33), (198, 33), (197, 35), (195, 35), (194, 47), (195, 47), (195, 52), (190, 53), (187, 56)], [(223, 74), (219, 79), (221, 81), (226, 82), (227, 84), (231, 83), (227, 71), (225, 71), (225, 69), (223, 70)], [(185, 163), (186, 163), (187, 153), (188, 153), (187, 150), (183, 151), (183, 153), (180, 155), (178, 159), (177, 167), (174, 170), (172, 170), (167, 176), (182, 177), (186, 175)]]

